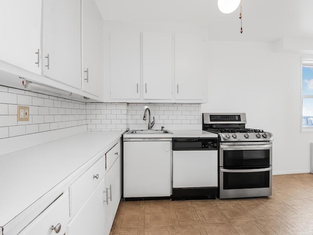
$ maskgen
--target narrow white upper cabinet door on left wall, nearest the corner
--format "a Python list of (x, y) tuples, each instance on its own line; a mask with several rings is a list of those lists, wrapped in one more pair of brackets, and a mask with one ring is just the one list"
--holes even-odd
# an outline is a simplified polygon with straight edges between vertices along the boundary
[(82, 0), (82, 90), (103, 95), (103, 20), (94, 0)]

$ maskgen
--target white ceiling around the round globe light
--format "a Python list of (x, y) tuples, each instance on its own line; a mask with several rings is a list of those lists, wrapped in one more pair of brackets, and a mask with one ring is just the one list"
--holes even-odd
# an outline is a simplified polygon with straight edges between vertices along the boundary
[(273, 42), (313, 39), (313, 0), (243, 0), (223, 14), (217, 0), (96, 0), (104, 20), (194, 24), (206, 27), (211, 40)]

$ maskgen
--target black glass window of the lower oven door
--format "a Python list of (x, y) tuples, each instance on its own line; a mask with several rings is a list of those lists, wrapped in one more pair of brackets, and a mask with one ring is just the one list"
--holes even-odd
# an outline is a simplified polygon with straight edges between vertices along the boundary
[(269, 171), (262, 172), (223, 172), (224, 189), (268, 188)]

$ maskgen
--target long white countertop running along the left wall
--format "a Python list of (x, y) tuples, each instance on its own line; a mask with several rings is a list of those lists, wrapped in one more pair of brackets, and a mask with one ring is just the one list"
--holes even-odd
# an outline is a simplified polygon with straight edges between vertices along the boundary
[(83, 132), (0, 156), (0, 227), (89, 162), (122, 131)]

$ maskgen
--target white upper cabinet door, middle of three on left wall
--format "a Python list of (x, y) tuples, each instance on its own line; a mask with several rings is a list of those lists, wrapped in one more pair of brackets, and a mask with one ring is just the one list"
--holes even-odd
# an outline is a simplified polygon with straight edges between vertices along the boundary
[(46, 77), (81, 89), (81, 1), (43, 0), (43, 56)]

